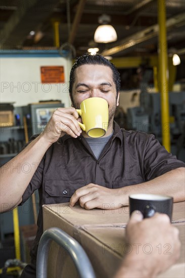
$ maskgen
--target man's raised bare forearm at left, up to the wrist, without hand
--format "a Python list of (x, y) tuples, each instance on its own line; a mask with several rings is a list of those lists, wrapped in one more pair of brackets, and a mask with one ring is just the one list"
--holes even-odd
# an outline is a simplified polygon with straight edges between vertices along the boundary
[(0, 212), (14, 208), (21, 202), (23, 193), (50, 146), (40, 134), (20, 154), (1, 167)]

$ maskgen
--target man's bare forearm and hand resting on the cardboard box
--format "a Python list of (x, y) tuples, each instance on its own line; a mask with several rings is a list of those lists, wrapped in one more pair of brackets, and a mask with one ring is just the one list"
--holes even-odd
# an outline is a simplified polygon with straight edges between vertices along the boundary
[(70, 206), (73, 207), (79, 201), (80, 206), (85, 209), (112, 209), (111, 204), (114, 204), (116, 209), (127, 206), (129, 195), (134, 193), (169, 195), (173, 197), (174, 202), (181, 202), (184, 201), (184, 169), (171, 170), (153, 180), (119, 189), (109, 189), (89, 183), (75, 191), (70, 199)]

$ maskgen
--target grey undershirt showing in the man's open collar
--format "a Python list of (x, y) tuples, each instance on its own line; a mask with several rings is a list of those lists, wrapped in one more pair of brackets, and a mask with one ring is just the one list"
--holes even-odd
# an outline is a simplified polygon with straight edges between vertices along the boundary
[(111, 135), (101, 138), (84, 137), (97, 160), (99, 159), (101, 152), (103, 151), (109, 139), (112, 137), (113, 133), (114, 131), (112, 131)]

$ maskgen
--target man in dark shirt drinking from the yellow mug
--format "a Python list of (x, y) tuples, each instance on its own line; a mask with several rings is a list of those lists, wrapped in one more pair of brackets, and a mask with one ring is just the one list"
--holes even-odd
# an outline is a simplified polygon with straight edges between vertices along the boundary
[[(119, 72), (110, 61), (98, 54), (79, 57), (70, 73), (72, 107), (58, 108), (43, 132), (32, 136), (24, 150), (3, 166), (1, 203), (9, 204), (7, 211), (22, 205), (36, 189), (39, 192), (33, 265), (25, 277), (35, 275), (42, 204), (70, 201), (74, 206), (78, 201), (85, 209), (113, 209), (127, 205), (128, 196), (134, 193), (167, 193), (174, 202), (184, 201), (184, 163), (169, 154), (154, 135), (120, 129), (113, 121), (119, 91)], [(108, 103), (108, 128), (101, 138), (88, 137), (81, 130), (76, 111), (82, 101), (95, 97)], [(11, 163), (33, 167), (29, 173), (16, 173)]]

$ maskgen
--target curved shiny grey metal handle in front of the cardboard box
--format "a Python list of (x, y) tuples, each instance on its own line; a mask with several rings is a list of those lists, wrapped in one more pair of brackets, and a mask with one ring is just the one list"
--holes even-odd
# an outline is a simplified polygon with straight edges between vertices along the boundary
[(45, 230), (40, 238), (36, 260), (36, 278), (47, 278), (49, 252), (45, 252), (44, 248), (49, 248), (52, 241), (58, 243), (69, 253), (80, 277), (96, 278), (94, 269), (81, 245), (65, 231), (56, 227)]

